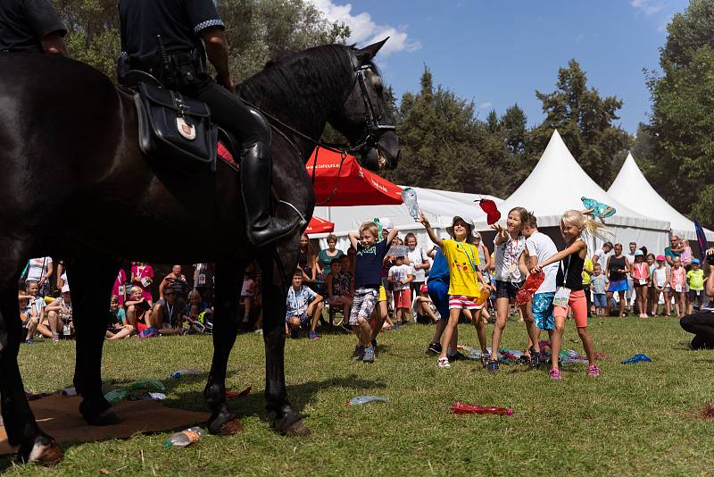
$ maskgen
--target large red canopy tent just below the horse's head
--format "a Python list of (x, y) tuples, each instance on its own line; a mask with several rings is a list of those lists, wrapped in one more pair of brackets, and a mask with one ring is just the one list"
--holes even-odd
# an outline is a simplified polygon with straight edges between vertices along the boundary
[[(352, 155), (342, 155), (317, 148), (305, 165), (312, 177), (315, 156), (316, 205), (400, 205), (402, 188), (361, 167)], [(342, 167), (340, 167), (342, 163)]]

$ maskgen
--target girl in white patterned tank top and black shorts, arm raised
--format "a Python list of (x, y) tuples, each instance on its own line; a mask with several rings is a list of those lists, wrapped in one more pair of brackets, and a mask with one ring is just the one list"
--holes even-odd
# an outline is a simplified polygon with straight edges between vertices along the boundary
[[(491, 359), (488, 360), (488, 371), (498, 372), (498, 347), (501, 344), (501, 335), (506, 327), (508, 311), (511, 300), (516, 298), (523, 281), (526, 280), (527, 266), (524, 251), (526, 250), (526, 238), (523, 236), (523, 227), (528, 222), (530, 213), (523, 207), (515, 207), (508, 213), (506, 228), (494, 224), (492, 228), (498, 233), (494, 239), (495, 264), (496, 264), (496, 324), (494, 334), (491, 338)], [(533, 332), (532, 320), (527, 318), (527, 304), (519, 305), (521, 316), (526, 320), (526, 329), (530, 336)], [(537, 340), (533, 343), (535, 350), (540, 352)], [(533, 357), (533, 356), (531, 356)], [(537, 359), (537, 358), (536, 358)], [(537, 365), (538, 362), (535, 363)]]

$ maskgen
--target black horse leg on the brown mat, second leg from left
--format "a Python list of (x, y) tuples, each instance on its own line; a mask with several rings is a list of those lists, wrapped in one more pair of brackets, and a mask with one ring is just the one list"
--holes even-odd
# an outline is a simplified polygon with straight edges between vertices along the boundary
[(82, 397), (79, 412), (92, 425), (120, 422), (102, 393), (105, 316), (119, 267), (120, 264), (113, 259), (91, 255), (73, 259), (67, 267), (77, 340), (74, 387)]

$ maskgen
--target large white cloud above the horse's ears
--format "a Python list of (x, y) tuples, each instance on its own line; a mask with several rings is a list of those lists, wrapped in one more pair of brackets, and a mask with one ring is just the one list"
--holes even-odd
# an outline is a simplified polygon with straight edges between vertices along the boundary
[(406, 27), (380, 25), (366, 12), (353, 14), (352, 4), (340, 5), (333, 0), (312, 0), (312, 4), (325, 13), (329, 21), (342, 21), (350, 27), (350, 43), (367, 46), (389, 37), (389, 41), (379, 50), (382, 56), (401, 51), (415, 51), (421, 47), (419, 41), (409, 38)]

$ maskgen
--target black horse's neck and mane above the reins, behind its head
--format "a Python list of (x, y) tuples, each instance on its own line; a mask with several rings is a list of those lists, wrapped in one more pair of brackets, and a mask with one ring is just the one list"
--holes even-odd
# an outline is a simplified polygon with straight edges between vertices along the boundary
[[(239, 96), (294, 127), (320, 135), (328, 114), (342, 106), (353, 79), (344, 45), (316, 46), (285, 54), (237, 87)], [(336, 69), (336, 65), (339, 68)]]

